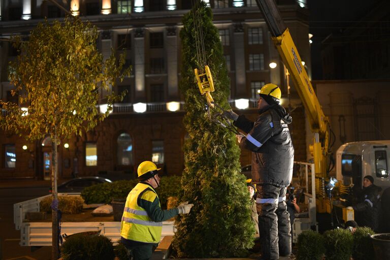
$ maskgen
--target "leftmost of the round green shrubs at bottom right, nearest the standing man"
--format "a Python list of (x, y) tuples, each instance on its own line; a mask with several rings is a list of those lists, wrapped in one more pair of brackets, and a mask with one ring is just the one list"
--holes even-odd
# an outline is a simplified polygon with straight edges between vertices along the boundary
[(298, 236), (298, 260), (321, 260), (325, 253), (323, 237), (312, 230), (306, 230)]

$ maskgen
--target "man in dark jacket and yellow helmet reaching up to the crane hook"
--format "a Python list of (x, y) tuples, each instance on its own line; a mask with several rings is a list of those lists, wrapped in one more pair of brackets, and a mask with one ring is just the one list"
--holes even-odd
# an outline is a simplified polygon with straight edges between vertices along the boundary
[(294, 147), (287, 124), (291, 117), (279, 105), (281, 91), (266, 84), (259, 91), (259, 116), (251, 122), (233, 111), (224, 114), (245, 133), (237, 135), (240, 146), (252, 151), (252, 182), (257, 184), (257, 212), (262, 256), (274, 260), (291, 253), (290, 219), (286, 188), (291, 182)]

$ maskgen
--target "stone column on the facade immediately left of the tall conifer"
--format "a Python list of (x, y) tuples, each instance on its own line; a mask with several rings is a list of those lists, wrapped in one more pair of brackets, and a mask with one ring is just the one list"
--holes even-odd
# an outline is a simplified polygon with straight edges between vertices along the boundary
[(178, 99), (176, 27), (167, 28), (168, 99)]

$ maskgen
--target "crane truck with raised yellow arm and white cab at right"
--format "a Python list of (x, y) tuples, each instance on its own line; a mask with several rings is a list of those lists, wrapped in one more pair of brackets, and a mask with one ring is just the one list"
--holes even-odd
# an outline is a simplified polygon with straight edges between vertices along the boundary
[[(333, 159), (330, 144), (329, 118), (324, 115), (317, 96), (311, 85), (298, 49), (283, 22), (274, 0), (256, 0), (262, 11), (272, 36), (273, 43), (280, 54), (284, 65), (292, 76), (296, 90), (308, 115), (311, 131), (314, 133), (310, 150), (313, 153), (315, 168), (316, 210), (319, 213), (331, 213), (336, 205), (344, 221), (353, 220), (353, 210), (342, 203), (333, 203), (330, 190), (326, 185), (333, 182), (329, 179), (329, 169)], [(340, 180), (339, 191), (348, 192), (348, 186), (362, 186), (363, 177), (371, 175), (375, 184), (383, 188), (390, 186), (388, 178), (389, 141), (354, 142), (342, 145), (337, 151), (336, 178)], [(333, 188), (333, 187), (332, 187)]]

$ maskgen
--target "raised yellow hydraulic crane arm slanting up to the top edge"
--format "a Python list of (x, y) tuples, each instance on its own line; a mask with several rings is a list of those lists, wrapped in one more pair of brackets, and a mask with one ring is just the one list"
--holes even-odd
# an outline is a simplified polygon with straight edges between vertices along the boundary
[(316, 177), (326, 178), (329, 120), (322, 112), (306, 70), (302, 66), (302, 60), (297, 47), (291, 38), (288, 28), (284, 25), (274, 0), (256, 0), (256, 2), (264, 15), (273, 42), (288, 72), (293, 76), (298, 94), (309, 117), (310, 127), (314, 133), (313, 156), (315, 175)]

